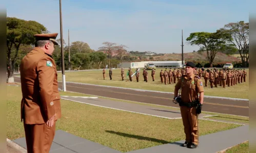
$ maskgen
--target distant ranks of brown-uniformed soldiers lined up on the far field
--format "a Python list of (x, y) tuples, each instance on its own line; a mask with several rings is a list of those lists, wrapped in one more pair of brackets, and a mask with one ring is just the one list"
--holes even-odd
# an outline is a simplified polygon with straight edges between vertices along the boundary
[[(139, 77), (140, 77), (140, 71), (138, 68), (136, 68), (136, 81), (139, 82)], [(103, 69), (103, 78), (105, 80), (105, 69)], [(129, 76), (129, 80), (132, 81), (132, 69), (129, 68), (128, 69), (128, 76)], [(237, 85), (237, 83), (242, 83), (243, 81), (246, 82), (246, 70), (242, 70), (242, 69), (236, 69), (236, 70), (226, 70), (226, 69), (221, 69), (218, 70), (216, 68), (214, 68), (213, 70), (205, 70), (204, 67), (201, 69), (195, 68), (194, 69), (194, 74), (197, 75), (198, 77), (203, 77), (205, 80), (205, 87), (207, 87), (208, 85), (208, 81), (210, 83), (210, 87), (213, 88), (214, 87), (218, 87), (218, 85), (223, 86), (223, 88), (225, 88), (226, 85), (228, 85), (228, 87), (233, 86), (233, 85)], [(155, 69), (152, 69), (151, 71), (151, 77), (152, 80), (155, 80)], [(171, 84), (171, 83), (176, 83), (178, 82), (183, 76), (186, 75), (186, 70), (185, 68), (182, 69), (178, 69), (176, 70), (174, 68), (174, 70), (172, 70), (170, 68), (169, 71), (167, 71), (167, 68), (165, 69), (165, 71), (161, 70), (160, 71), (160, 79), (161, 82), (164, 83), (165, 85), (167, 85), (167, 83)], [(121, 69), (121, 77), (122, 80), (124, 81), (124, 69)], [(109, 78), (110, 80), (112, 80), (112, 70), (109, 69)], [(143, 69), (143, 78), (144, 81), (148, 82), (148, 70), (146, 70), (145, 68)]]

